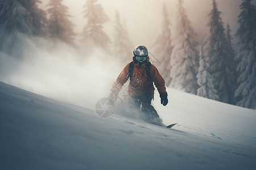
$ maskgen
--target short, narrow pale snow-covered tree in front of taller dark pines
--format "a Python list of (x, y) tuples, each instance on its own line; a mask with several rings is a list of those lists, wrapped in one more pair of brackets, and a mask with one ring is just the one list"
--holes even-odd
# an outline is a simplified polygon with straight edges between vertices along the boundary
[[(200, 63), (199, 63), (199, 73), (197, 74), (197, 83), (199, 84), (200, 88), (197, 89), (197, 95), (202, 97), (207, 97), (208, 99), (218, 100), (217, 91), (214, 89), (213, 86), (213, 79), (212, 76), (208, 72), (209, 58), (204, 55), (204, 44), (201, 45), (200, 51)], [(206, 44), (207, 45), (207, 44)]]

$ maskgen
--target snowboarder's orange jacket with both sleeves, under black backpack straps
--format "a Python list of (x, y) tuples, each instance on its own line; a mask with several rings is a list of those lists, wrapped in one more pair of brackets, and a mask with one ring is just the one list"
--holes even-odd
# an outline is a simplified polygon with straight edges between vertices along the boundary
[[(134, 62), (133, 57), (133, 62)], [(147, 62), (149, 62), (149, 57), (147, 58)], [(119, 91), (123, 87), (123, 84), (127, 82), (129, 79), (129, 65), (128, 63), (125, 68), (122, 70), (122, 72), (119, 74), (117, 80), (115, 81), (112, 92), (114, 92), (115, 95), (119, 94)], [(146, 74), (146, 63), (143, 63), (141, 67), (139, 67), (139, 63), (134, 62), (134, 70), (133, 70), (133, 76), (131, 77), (131, 81), (129, 84), (128, 93), (130, 96), (134, 95), (141, 95), (145, 92), (152, 92), (154, 94), (155, 88), (153, 86), (153, 82), (158, 89), (159, 94), (167, 94), (166, 87), (164, 83), (163, 77), (159, 74), (158, 69), (154, 65), (151, 64), (150, 73), (151, 73), (151, 79), (148, 81), (147, 74)]]

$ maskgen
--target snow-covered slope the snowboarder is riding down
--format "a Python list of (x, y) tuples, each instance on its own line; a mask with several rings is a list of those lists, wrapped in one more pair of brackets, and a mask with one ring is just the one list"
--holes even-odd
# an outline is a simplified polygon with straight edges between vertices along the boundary
[(256, 111), (168, 89), (172, 129), (0, 82), (0, 169), (253, 169)]

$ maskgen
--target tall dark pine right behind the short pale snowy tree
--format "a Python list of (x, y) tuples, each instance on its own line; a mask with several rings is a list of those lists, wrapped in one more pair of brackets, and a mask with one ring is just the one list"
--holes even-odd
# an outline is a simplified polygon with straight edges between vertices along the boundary
[(214, 88), (217, 90), (219, 101), (234, 104), (234, 91), (236, 90), (236, 66), (233, 49), (225, 35), (221, 12), (213, 0), (213, 9), (209, 14), (209, 73), (212, 75)]

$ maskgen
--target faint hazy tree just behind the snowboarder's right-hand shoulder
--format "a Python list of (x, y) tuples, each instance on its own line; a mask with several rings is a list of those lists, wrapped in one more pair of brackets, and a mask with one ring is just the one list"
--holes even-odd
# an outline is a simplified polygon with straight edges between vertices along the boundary
[(169, 86), (171, 83), (170, 72), (171, 72), (171, 54), (172, 54), (172, 45), (171, 45), (171, 21), (168, 18), (168, 12), (166, 5), (163, 5), (163, 23), (162, 23), (162, 32), (157, 37), (156, 41), (153, 44), (152, 51), (156, 54), (156, 57), (160, 61), (159, 72), (166, 81), (166, 86)]

